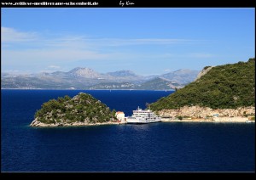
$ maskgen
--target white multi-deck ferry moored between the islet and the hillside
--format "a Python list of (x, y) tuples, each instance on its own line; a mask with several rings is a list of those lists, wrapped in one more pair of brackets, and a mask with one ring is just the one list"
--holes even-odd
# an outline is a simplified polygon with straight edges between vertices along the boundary
[(145, 124), (152, 122), (160, 122), (161, 118), (155, 115), (152, 110), (142, 110), (137, 107), (137, 110), (133, 110), (133, 115), (126, 117), (126, 123), (128, 124)]

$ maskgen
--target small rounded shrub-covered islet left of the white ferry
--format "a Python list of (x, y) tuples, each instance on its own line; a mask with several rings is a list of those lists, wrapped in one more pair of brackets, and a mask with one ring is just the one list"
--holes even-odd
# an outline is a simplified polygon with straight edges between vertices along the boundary
[(35, 113), (31, 127), (76, 127), (116, 123), (115, 110), (90, 94), (50, 99)]

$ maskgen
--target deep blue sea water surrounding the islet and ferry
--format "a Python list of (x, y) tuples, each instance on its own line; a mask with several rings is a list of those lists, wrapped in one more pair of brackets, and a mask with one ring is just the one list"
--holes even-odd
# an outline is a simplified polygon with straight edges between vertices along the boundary
[(2, 172), (254, 172), (255, 125), (160, 122), (35, 128), (50, 98), (90, 93), (131, 115), (171, 92), (1, 90)]

